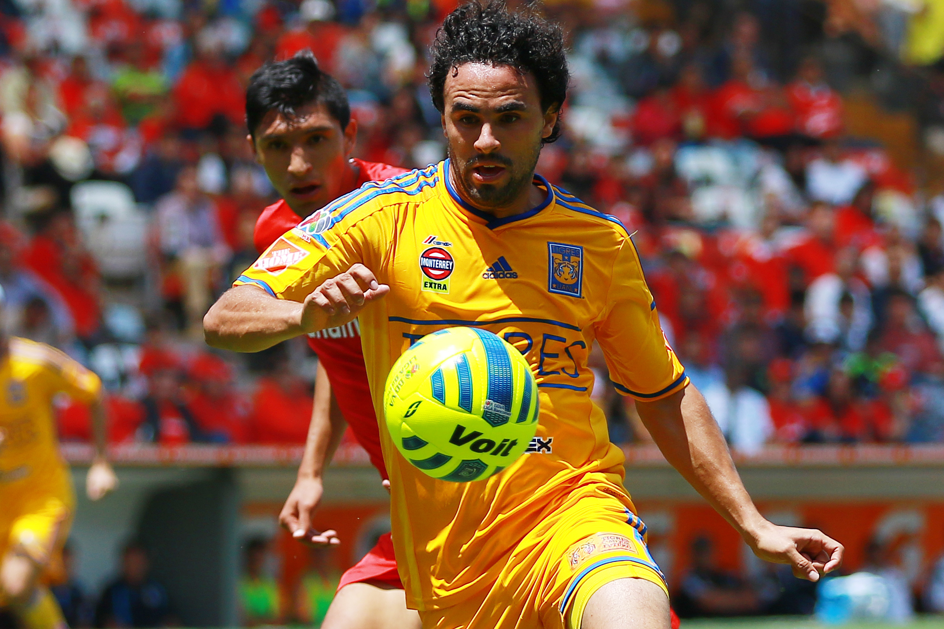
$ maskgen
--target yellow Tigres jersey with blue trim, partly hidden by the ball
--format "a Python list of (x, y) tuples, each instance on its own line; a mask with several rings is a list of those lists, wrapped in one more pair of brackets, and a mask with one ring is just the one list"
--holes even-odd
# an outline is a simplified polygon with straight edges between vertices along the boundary
[(470, 325), (512, 343), (538, 380), (541, 414), (530, 454), (474, 483), (415, 469), (380, 422), (392, 485), (396, 558), (408, 603), (458, 604), (488, 588), (510, 549), (588, 474), (632, 506), (623, 455), (590, 401), (596, 340), (615, 387), (653, 400), (687, 383), (659, 325), (625, 228), (535, 176), (547, 195), (505, 219), (466, 205), (448, 161), (368, 183), (277, 240), (236, 282), (302, 301), (356, 262), (391, 291), (360, 314), (374, 406), (387, 372), (410, 344)]

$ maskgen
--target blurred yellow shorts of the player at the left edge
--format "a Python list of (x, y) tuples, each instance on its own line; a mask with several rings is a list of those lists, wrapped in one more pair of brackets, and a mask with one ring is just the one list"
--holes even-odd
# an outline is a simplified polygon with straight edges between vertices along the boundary
[(72, 496), (60, 493), (37, 490), (28, 496), (5, 496), (0, 488), (0, 561), (10, 552), (26, 555), (48, 583), (63, 576), (61, 550), (72, 523)]

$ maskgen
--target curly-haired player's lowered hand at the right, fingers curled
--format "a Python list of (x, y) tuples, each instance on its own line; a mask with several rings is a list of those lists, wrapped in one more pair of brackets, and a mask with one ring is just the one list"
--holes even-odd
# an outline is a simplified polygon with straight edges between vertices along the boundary
[(838, 568), (846, 551), (842, 544), (817, 529), (777, 526), (771, 522), (748, 544), (754, 555), (765, 561), (789, 564), (794, 576), (814, 582), (821, 574)]

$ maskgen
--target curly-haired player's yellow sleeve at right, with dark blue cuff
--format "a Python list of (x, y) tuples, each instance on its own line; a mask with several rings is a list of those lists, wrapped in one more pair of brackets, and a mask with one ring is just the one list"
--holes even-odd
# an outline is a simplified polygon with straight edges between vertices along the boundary
[(641, 401), (683, 389), (688, 378), (659, 324), (632, 240), (623, 240), (611, 275), (597, 341), (615, 388)]

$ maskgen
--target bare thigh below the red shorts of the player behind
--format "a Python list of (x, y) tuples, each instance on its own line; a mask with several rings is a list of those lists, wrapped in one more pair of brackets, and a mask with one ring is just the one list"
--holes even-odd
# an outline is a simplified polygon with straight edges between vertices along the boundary
[(407, 608), (406, 593), (370, 583), (351, 583), (331, 601), (321, 629), (419, 629), (419, 615)]

